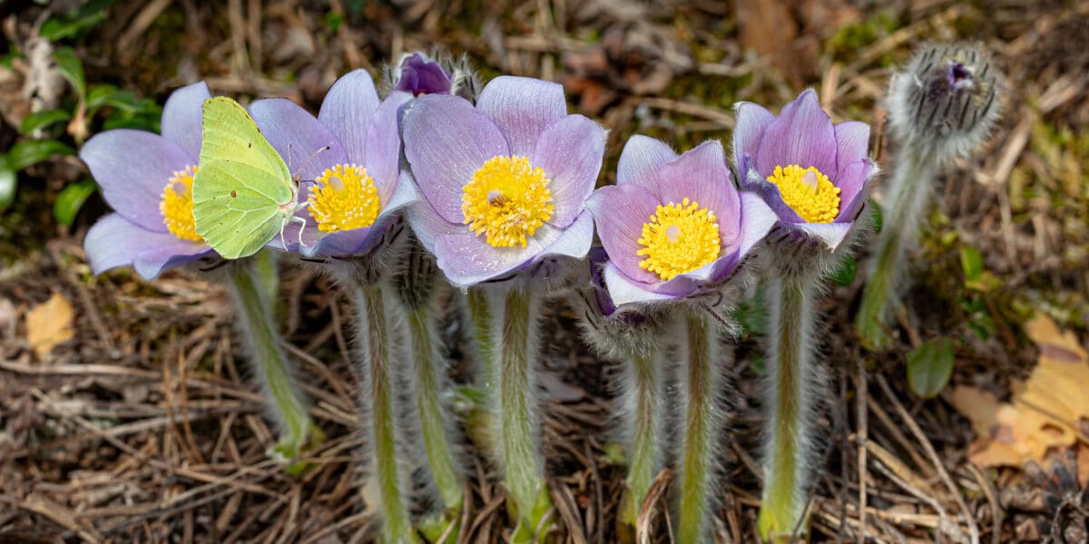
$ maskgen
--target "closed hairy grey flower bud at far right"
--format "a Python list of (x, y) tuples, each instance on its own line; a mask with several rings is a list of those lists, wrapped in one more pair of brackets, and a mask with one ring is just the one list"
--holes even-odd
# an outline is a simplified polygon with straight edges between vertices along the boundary
[(1005, 76), (982, 45), (920, 48), (889, 89), (889, 124), (904, 145), (929, 148), (940, 162), (966, 157), (990, 135)]

